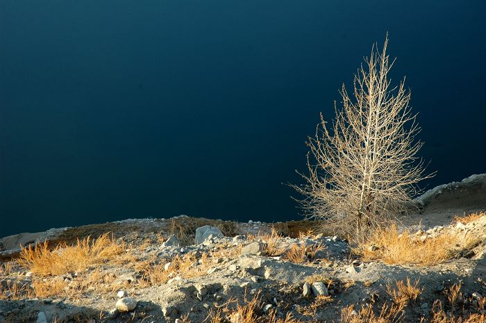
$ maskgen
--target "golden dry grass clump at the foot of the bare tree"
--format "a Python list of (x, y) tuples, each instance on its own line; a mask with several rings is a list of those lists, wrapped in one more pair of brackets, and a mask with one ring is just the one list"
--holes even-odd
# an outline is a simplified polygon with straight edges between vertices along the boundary
[[(396, 225), (378, 229), (359, 251), (366, 260), (383, 260), (389, 264), (435, 265), (457, 254), (459, 238), (442, 234), (423, 242), (414, 239), (409, 231), (399, 234)], [(370, 246), (378, 247), (371, 251)]]

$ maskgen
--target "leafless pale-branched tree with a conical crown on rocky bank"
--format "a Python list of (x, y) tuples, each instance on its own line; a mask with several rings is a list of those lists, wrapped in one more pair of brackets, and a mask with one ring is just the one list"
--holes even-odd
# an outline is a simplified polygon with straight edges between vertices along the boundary
[(303, 194), (306, 215), (324, 220), (327, 229), (355, 239), (396, 219), (417, 193), (424, 165), (416, 157), (422, 142), (411, 113), (405, 78), (392, 88), (387, 78), (394, 64), (376, 44), (354, 77), (351, 99), (344, 84), (342, 109), (335, 104), (332, 131), (321, 114), (314, 137), (308, 138), (305, 185), (291, 185)]

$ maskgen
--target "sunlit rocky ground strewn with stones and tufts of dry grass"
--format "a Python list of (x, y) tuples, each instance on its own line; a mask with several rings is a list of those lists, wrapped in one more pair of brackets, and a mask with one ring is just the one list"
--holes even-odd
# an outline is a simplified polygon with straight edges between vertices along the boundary
[[(411, 239), (424, 244), (454, 237), (449, 259), (390, 264), (369, 257), (383, 246), (363, 252), (340, 237), (315, 234), (315, 223), (305, 221), (182, 215), (13, 235), (0, 240), (0, 322), (447, 323), (468, 322), (459, 320), (470, 315), (477, 316), (469, 322), (486, 322), (486, 213), (480, 213), (486, 176), (442, 185), (417, 204), (419, 212), (404, 218), (400, 231), (410, 229)], [(104, 249), (92, 254), (82, 247), (68, 254), (62, 246), (49, 253), (61, 242), (106, 232)], [(38, 247), (31, 256), (45, 246), (51, 263), (25, 251), (22, 261), (19, 246), (28, 245)], [(365, 317), (367, 306), (383, 320)], [(394, 317), (383, 314), (393, 311)]]

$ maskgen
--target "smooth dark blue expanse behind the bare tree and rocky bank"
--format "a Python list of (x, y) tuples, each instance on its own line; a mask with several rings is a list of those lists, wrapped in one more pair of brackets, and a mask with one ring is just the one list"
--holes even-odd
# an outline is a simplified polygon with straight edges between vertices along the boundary
[(486, 2), (0, 1), (0, 236), (298, 218), (319, 111), (389, 31), (437, 170), (486, 172)]

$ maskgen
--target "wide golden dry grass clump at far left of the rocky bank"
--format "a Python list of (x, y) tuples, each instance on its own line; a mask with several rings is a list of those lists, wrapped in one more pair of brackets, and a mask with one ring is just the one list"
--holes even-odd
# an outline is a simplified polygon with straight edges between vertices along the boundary
[(50, 249), (47, 242), (22, 248), (19, 264), (38, 276), (82, 272), (92, 265), (116, 258), (125, 251), (124, 242), (117, 243), (108, 233), (92, 240), (87, 237), (78, 240), (76, 245), (64, 243)]

